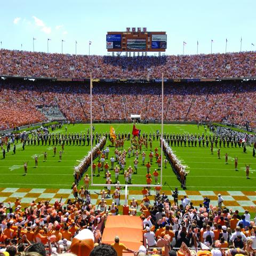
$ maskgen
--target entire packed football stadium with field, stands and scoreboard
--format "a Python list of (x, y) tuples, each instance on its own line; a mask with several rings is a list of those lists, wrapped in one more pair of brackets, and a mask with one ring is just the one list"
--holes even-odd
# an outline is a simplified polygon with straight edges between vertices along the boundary
[(1, 41), (1, 256), (255, 255), (255, 51), (165, 54), (147, 28), (107, 32), (107, 55), (35, 39)]

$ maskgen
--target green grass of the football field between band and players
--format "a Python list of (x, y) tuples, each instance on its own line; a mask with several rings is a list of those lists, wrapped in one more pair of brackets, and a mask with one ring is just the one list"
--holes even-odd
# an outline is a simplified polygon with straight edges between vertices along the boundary
[[(118, 132), (132, 132), (132, 124), (113, 124), (116, 134)], [(67, 125), (67, 132), (82, 132), (86, 133), (89, 128), (88, 124)], [(138, 129), (141, 129), (141, 134), (145, 131), (148, 133), (161, 130), (161, 125), (158, 124), (138, 124)], [(95, 124), (95, 132), (108, 132), (110, 124)], [(62, 129), (54, 132), (65, 133), (65, 126)], [(200, 133), (204, 132), (204, 127), (197, 125), (164, 125), (164, 132), (169, 133)], [(207, 131), (210, 134), (209, 131)], [(87, 142), (86, 142), (87, 145)], [(110, 145), (107, 141), (106, 145)], [(130, 146), (130, 141), (126, 141), (124, 148)], [(159, 147), (159, 140), (153, 141), (153, 149)], [(215, 144), (214, 144), (215, 146)], [(175, 154), (182, 161), (182, 164), (187, 165), (187, 189), (188, 190), (243, 190), (254, 191), (256, 180), (256, 158), (252, 157), (252, 148), (247, 147), (247, 154), (243, 153), (242, 148), (221, 148), (221, 159), (217, 157), (217, 148), (214, 147), (214, 154), (211, 155), (210, 147), (172, 147)], [(53, 155), (53, 146), (26, 146), (22, 150), (21, 143), (17, 145), (16, 154), (13, 155), (12, 147), (9, 153), (6, 153), (5, 159), (0, 159), (0, 187), (16, 187), (16, 188), (70, 188), (74, 181), (73, 172), (74, 166), (78, 164), (79, 159), (82, 159), (90, 146), (66, 146), (62, 155), (62, 161), (59, 162), (58, 151), (61, 149), (57, 146), (57, 154)], [(114, 148), (110, 148), (110, 157), (114, 156)], [(146, 161), (149, 155), (146, 148), (142, 148), (146, 152)], [(43, 153), (47, 152), (47, 162), (43, 162)], [(112, 153), (112, 154), (111, 154)], [(228, 164), (225, 164), (225, 153), (229, 154)], [(38, 167), (35, 168), (34, 155), (39, 155)], [(234, 157), (238, 156), (238, 171), (235, 171)], [(110, 158), (109, 157), (109, 158)], [(134, 157), (126, 158), (126, 167), (133, 167)], [(28, 162), (28, 174), (24, 174), (23, 162)], [(110, 163), (110, 161), (109, 161)], [(250, 179), (245, 177), (245, 163), (251, 164)], [(133, 184), (146, 184), (146, 167), (142, 166), (141, 156), (139, 157), (138, 174), (133, 174)], [(157, 167), (156, 163), (151, 166), (151, 173)], [(90, 170), (89, 170), (90, 172)], [(113, 173), (113, 171), (112, 171)], [(119, 180), (124, 183), (123, 175), (120, 175)], [(115, 181), (113, 173), (113, 181)], [(163, 184), (167, 181), (173, 187), (180, 187), (180, 182), (175, 177), (171, 165), (167, 164), (167, 168), (163, 169)], [(93, 177), (93, 183), (105, 183), (103, 172), (100, 177)], [(154, 183), (154, 182), (153, 182)], [(81, 182), (82, 184), (82, 182)], [(141, 189), (141, 188), (133, 188)], [(167, 189), (167, 187), (165, 187)]]

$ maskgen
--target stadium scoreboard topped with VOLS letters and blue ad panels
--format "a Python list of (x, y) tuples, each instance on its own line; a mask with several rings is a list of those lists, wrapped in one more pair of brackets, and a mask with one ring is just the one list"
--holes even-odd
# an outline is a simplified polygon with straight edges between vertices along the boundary
[(125, 32), (108, 32), (108, 52), (165, 52), (166, 32), (148, 32), (147, 28), (126, 28)]

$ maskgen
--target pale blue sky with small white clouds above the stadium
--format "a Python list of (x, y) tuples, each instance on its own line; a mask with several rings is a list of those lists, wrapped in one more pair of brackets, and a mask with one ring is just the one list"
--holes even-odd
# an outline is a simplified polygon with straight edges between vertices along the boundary
[[(165, 54), (256, 50), (254, 0), (9, 0), (1, 1), (0, 41), (4, 49), (107, 55), (107, 31), (147, 27), (166, 31)], [(253, 46), (254, 44), (255, 46)]]

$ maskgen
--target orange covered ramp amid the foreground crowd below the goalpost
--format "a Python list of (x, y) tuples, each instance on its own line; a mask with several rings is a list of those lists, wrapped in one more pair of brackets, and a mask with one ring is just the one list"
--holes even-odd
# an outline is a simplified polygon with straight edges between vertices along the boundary
[[(142, 245), (142, 221), (140, 217), (129, 215), (109, 215), (102, 234), (102, 243), (115, 243), (115, 236), (119, 236), (120, 243), (131, 250), (138, 251)], [(125, 255), (128, 255), (125, 253)]]

